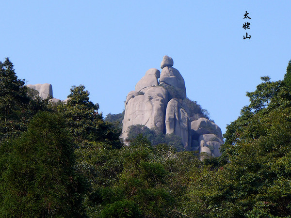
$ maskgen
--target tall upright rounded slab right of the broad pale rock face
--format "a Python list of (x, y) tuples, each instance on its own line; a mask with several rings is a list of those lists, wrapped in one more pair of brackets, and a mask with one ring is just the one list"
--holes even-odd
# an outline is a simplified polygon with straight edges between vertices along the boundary
[(181, 103), (173, 98), (168, 102), (166, 109), (166, 133), (175, 133), (182, 138), (184, 148), (191, 147), (191, 127), (187, 111)]

